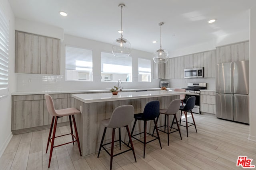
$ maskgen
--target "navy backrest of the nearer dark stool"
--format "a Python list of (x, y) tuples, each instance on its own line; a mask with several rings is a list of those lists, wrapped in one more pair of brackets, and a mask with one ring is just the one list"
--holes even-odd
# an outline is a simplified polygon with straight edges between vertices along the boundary
[(153, 120), (158, 117), (160, 111), (160, 104), (158, 100), (150, 101), (146, 104), (143, 111), (144, 120)]

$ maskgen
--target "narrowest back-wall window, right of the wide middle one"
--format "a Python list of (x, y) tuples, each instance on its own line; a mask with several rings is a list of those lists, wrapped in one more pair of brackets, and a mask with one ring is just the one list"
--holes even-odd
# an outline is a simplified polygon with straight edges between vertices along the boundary
[(138, 81), (151, 82), (150, 60), (138, 58)]

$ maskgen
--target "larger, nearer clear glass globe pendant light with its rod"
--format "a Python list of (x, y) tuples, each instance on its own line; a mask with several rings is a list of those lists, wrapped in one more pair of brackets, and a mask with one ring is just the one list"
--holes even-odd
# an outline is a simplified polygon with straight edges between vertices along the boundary
[(121, 38), (118, 38), (114, 41), (112, 44), (112, 53), (115, 57), (129, 57), (132, 52), (131, 43), (123, 38), (123, 7), (125, 7), (124, 4), (119, 4), (119, 7), (121, 7)]

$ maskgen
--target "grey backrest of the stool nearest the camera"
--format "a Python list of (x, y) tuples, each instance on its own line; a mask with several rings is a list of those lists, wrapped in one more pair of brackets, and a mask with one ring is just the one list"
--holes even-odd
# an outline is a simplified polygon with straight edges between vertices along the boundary
[(114, 109), (108, 127), (117, 128), (129, 125), (134, 116), (134, 107), (132, 105), (118, 106)]

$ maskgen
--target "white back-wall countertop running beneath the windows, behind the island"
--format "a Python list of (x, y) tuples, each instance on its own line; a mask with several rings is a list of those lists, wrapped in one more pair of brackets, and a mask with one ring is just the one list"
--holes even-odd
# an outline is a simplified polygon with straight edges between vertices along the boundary
[[(128, 88), (122, 89), (125, 91), (136, 91), (136, 90), (160, 90), (160, 88)], [(98, 92), (109, 92), (109, 89), (105, 90), (44, 90), (44, 91), (28, 91), (28, 92), (14, 92), (12, 95), (34, 95), (34, 94), (62, 94), (62, 93), (98, 93)]]

